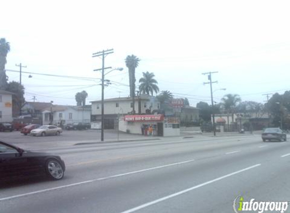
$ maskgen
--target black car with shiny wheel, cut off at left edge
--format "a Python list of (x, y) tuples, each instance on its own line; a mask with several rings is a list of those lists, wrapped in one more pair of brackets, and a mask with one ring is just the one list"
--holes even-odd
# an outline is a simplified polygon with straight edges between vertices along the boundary
[(26, 151), (0, 141), (0, 181), (39, 175), (60, 180), (64, 171), (65, 164), (60, 156)]

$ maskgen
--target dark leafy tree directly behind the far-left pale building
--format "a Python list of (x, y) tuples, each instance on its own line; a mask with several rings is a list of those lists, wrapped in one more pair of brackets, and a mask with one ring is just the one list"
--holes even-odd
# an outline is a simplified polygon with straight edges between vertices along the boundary
[(20, 109), (25, 104), (24, 87), (20, 83), (12, 81), (7, 84), (6, 91), (14, 93), (12, 95), (12, 115), (16, 117), (20, 115)]

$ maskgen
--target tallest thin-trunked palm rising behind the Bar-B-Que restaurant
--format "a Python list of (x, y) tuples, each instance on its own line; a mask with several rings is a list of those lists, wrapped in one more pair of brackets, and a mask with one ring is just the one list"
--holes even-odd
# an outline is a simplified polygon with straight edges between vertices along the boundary
[(129, 69), (129, 82), (130, 82), (130, 96), (133, 99), (133, 113), (135, 114), (135, 69), (139, 65), (140, 59), (138, 59), (136, 56), (127, 56), (125, 63), (126, 66)]

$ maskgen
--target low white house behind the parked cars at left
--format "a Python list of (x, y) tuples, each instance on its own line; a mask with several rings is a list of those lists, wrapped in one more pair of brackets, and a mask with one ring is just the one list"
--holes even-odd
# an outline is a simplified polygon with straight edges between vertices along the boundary
[(50, 123), (58, 125), (61, 122), (63, 125), (72, 124), (75, 122), (90, 123), (91, 106), (87, 105), (83, 108), (75, 106), (52, 105), (52, 107), (46, 108), (43, 111), (43, 125), (48, 125)]

